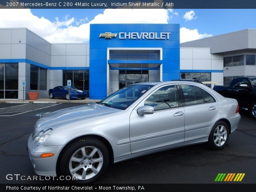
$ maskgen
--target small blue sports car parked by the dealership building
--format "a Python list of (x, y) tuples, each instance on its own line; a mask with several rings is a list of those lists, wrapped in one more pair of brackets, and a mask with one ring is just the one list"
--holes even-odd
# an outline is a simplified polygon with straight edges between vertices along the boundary
[(67, 100), (70, 99), (85, 99), (86, 98), (86, 91), (78, 90), (75, 87), (70, 88), (70, 97), (68, 94), (68, 87), (67, 86), (56, 86), (53, 89), (49, 90), (49, 96), (51, 99), (55, 97), (66, 98)]

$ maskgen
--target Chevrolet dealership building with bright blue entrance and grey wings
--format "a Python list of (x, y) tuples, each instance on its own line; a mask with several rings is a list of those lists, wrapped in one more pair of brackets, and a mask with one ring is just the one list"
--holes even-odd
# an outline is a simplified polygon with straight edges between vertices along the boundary
[[(67, 85), (102, 99), (137, 82), (180, 78), (229, 84), (256, 76), (256, 30), (180, 44), (179, 24), (91, 24), (90, 43), (50, 43), (27, 28), (0, 28), (0, 99)], [(208, 84), (208, 86), (213, 86)]]

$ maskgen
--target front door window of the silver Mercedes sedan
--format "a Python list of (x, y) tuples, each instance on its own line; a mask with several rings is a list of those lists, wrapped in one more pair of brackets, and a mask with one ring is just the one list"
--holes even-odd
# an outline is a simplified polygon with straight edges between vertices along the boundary
[(179, 106), (177, 85), (165, 86), (154, 92), (144, 105), (152, 106), (155, 111)]

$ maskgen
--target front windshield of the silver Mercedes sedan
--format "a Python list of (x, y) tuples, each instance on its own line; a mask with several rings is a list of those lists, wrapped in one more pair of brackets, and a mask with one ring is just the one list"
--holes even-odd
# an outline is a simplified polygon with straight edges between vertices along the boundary
[(108, 107), (126, 110), (154, 85), (129, 85), (98, 102)]

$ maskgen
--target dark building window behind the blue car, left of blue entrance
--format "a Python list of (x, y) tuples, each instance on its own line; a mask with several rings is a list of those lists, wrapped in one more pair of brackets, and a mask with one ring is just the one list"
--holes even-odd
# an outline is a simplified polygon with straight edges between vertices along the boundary
[(71, 85), (79, 90), (89, 91), (89, 70), (63, 70), (63, 86)]

